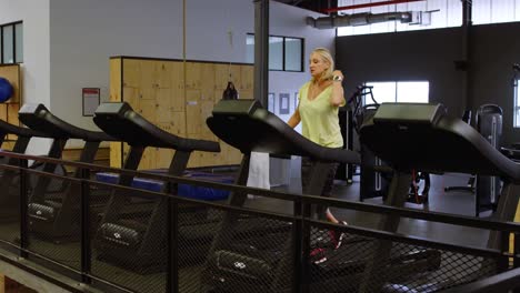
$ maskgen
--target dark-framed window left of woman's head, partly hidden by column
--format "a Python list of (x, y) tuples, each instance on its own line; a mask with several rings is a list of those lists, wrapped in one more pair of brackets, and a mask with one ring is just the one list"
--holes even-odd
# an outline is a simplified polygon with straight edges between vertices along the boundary
[[(254, 62), (254, 34), (246, 37), (246, 61)], [(269, 70), (303, 71), (303, 39), (269, 37)]]

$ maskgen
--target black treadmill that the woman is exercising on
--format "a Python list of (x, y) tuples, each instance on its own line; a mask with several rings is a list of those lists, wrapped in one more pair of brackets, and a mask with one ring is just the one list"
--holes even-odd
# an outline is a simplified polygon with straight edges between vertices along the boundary
[[(357, 152), (342, 149), (323, 148), (316, 144), (290, 128), (286, 122), (268, 112), (256, 100), (220, 101), (212, 115), (207, 120), (211, 131), (226, 143), (243, 153), (238, 185), (246, 185), (248, 179), (251, 152), (264, 152), (277, 156), (310, 156), (318, 161), (312, 170), (309, 190), (303, 194), (321, 194), (327, 180), (327, 163), (340, 162), (359, 164)], [(408, 182), (409, 184), (410, 182)], [(242, 206), (247, 195), (233, 193), (229, 204)], [(401, 203), (402, 205), (402, 203)], [(304, 216), (313, 216), (311, 211), (303, 211)], [(291, 271), (293, 264), (294, 243), (292, 234), (287, 233), (274, 247), (258, 247), (250, 243), (237, 243), (237, 216), (229, 212), (221, 225), (218, 236), (212, 243), (202, 282), (220, 292), (289, 292), (293, 286)], [(301, 251), (302, 264), (310, 266), (310, 292), (344, 292), (348, 287), (356, 290), (360, 272), (370, 260), (366, 246), (373, 240), (350, 236), (338, 249), (323, 246), (320, 239), (328, 235), (329, 230), (312, 226), (303, 241), (310, 243), (311, 251), (316, 247), (327, 252), (326, 262), (310, 260), (311, 251)], [(394, 229), (389, 229), (394, 231)], [(251, 242), (253, 243), (253, 242)], [(246, 245), (244, 245), (246, 244)], [(391, 255), (392, 270), (410, 275), (416, 272), (434, 270), (439, 262), (439, 253), (431, 250), (402, 251), (394, 250)], [(407, 269), (411, 267), (411, 270)], [(331, 276), (331, 277), (326, 277)], [(342, 286), (338, 286), (342, 284)]]

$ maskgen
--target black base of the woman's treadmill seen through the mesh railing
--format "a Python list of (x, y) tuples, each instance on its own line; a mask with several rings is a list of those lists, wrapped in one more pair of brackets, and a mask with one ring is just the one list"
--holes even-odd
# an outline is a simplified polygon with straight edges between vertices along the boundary
[[(226, 292), (291, 290), (294, 265), (291, 222), (227, 212), (211, 243), (202, 283)], [(196, 281), (186, 292), (199, 292)]]

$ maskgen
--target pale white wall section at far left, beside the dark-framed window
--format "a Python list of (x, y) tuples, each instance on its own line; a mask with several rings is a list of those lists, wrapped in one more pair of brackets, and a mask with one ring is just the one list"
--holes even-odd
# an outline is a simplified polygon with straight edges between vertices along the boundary
[[(0, 0), (0, 24), (23, 21), (22, 101), (50, 102), (49, 0)], [(29, 152), (44, 153), (48, 140), (32, 140)]]

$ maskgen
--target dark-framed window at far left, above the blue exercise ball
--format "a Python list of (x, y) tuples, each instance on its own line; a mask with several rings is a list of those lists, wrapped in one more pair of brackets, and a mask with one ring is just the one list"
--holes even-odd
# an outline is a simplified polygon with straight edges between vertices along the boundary
[(0, 26), (0, 64), (23, 62), (22, 22)]

